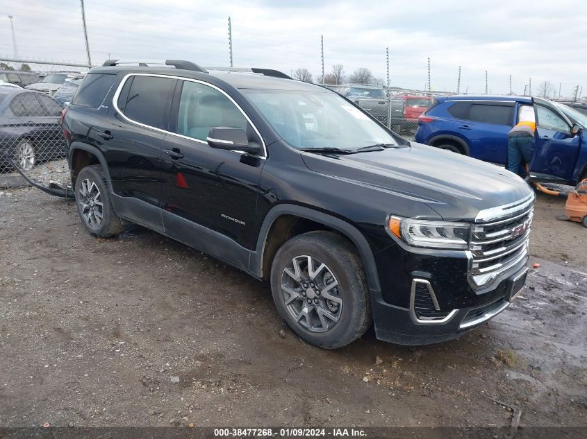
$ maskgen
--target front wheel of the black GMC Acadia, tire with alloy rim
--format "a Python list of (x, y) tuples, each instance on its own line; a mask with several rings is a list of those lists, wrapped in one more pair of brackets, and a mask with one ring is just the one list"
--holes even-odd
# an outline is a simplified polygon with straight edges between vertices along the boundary
[(363, 264), (354, 246), (337, 234), (308, 232), (284, 243), (272, 262), (271, 290), (289, 327), (324, 349), (352, 343), (371, 325)]

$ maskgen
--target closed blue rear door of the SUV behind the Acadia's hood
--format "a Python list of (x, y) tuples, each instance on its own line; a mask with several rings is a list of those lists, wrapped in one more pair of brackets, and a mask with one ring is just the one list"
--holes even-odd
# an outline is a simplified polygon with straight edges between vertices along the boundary
[(463, 105), (458, 115), (461, 120), (455, 121), (454, 129), (468, 139), (471, 157), (506, 163), (514, 105), (509, 101), (471, 101)]

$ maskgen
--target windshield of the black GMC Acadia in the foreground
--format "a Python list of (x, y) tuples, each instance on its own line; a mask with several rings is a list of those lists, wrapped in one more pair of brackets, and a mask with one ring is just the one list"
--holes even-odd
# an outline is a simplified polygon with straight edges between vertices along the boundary
[(397, 145), (392, 135), (336, 93), (242, 90), (263, 117), (294, 148), (357, 150)]

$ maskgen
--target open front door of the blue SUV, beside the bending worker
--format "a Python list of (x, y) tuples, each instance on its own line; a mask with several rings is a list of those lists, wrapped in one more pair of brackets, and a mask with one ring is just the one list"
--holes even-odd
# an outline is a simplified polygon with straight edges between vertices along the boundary
[(579, 156), (581, 136), (570, 134), (572, 123), (549, 101), (532, 98), (536, 145), (530, 171), (537, 177), (570, 180)]

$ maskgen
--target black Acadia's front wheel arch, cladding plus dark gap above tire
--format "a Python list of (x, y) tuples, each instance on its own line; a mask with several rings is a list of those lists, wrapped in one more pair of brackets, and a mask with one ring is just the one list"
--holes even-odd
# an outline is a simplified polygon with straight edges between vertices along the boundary
[[(303, 224), (296, 224), (297, 221), (302, 221)], [(292, 225), (299, 227), (297, 233), (291, 233)], [(279, 227), (279, 230), (276, 230), (276, 227)], [(311, 230), (331, 230), (348, 239), (361, 257), (369, 289), (381, 291), (371, 247), (365, 236), (354, 225), (331, 214), (287, 203), (273, 207), (265, 216), (257, 239), (257, 250), (251, 252), (249, 261), (251, 273), (261, 279), (267, 278), (271, 270), (270, 261), (281, 245), (293, 236)], [(276, 233), (278, 238), (271, 241), (273, 233)]]

